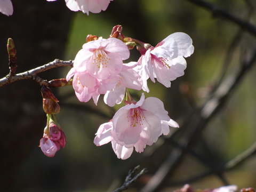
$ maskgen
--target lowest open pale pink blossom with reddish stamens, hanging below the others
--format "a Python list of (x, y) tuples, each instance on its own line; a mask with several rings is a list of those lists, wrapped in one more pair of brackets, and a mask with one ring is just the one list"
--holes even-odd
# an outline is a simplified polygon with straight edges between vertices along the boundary
[(94, 143), (97, 146), (111, 141), (118, 158), (126, 159), (135, 151), (141, 153), (162, 134), (169, 133), (169, 126), (179, 127), (157, 98), (147, 98), (142, 93), (137, 103), (128, 103), (120, 108), (111, 122), (99, 127)]

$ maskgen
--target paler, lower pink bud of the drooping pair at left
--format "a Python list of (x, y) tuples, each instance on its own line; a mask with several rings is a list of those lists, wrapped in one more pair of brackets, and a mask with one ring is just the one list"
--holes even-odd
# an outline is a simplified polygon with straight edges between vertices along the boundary
[(55, 153), (58, 151), (58, 148), (55, 145), (55, 142), (49, 138), (43, 137), (40, 140), (39, 147), (41, 147), (41, 150), (43, 151), (44, 155), (46, 155), (47, 157), (54, 157)]

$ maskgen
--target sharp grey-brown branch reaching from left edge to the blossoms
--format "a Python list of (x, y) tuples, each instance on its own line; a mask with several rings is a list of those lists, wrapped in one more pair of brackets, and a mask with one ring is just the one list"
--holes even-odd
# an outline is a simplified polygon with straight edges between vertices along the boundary
[(46, 85), (47, 81), (44, 81), (42, 78), (37, 76), (37, 74), (56, 67), (73, 67), (73, 61), (62, 61), (55, 59), (54, 61), (49, 62), (41, 67), (37, 67), (35, 69), (31, 69), (19, 74), (7, 75), (6, 77), (0, 79), (0, 87), (23, 79), (33, 79), (40, 85)]

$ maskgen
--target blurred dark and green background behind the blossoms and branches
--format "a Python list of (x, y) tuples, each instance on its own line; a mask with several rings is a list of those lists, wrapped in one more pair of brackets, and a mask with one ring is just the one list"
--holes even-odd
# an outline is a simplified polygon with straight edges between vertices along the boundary
[[(56, 58), (74, 60), (88, 34), (108, 38), (115, 25), (122, 25), (125, 36), (153, 46), (172, 33), (187, 33), (193, 39), (195, 52), (186, 58), (185, 75), (173, 81), (169, 89), (148, 81), (150, 92), (145, 93), (146, 97), (161, 99), (180, 128), (171, 128), (170, 135), (160, 137), (141, 154), (134, 151), (126, 160), (116, 157), (110, 143), (101, 147), (93, 143), (99, 125), (108, 122), (124, 104), (109, 108), (100, 97), (95, 106), (92, 100), (79, 102), (72, 86), (52, 89), (60, 101), (56, 117), (67, 144), (49, 158), (38, 147), (46, 125), (41, 87), (33, 81), (2, 87), (1, 191), (113, 191), (137, 165), (148, 172), (127, 191), (153, 191), (145, 187), (146, 183), (151, 182), (159, 167), (164, 168), (164, 162), (172, 168), (169, 166), (170, 171), (154, 191), (172, 191), (186, 183), (195, 189), (231, 184), (256, 188), (255, 147), (242, 163), (232, 169), (222, 167), (255, 145), (255, 67), (243, 75), (214, 115), (203, 119), (203, 125), (197, 124), (202, 120), (198, 113), (212, 93), (255, 52), (256, 34), (186, 0), (114, 0), (106, 11), (89, 16), (71, 12), (64, 0), (12, 2), (14, 14), (0, 15), (1, 77), (9, 73), (9, 37), (17, 47), (17, 73)], [(255, 24), (253, 0), (207, 2)], [(131, 50), (129, 61), (139, 57), (137, 50)], [(69, 69), (53, 69), (39, 76), (49, 81), (65, 78)], [(131, 93), (139, 100), (142, 91)], [(199, 129), (193, 132), (197, 125)], [(188, 141), (190, 136), (193, 139)], [(177, 151), (182, 155), (172, 163)]]

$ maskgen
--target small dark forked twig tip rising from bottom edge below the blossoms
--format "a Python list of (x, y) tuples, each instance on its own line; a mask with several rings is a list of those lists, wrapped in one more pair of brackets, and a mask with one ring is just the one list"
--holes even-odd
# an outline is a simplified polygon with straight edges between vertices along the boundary
[(133, 185), (133, 183), (144, 173), (147, 172), (146, 168), (142, 169), (137, 175), (135, 175), (132, 178), (132, 175), (137, 172), (139, 170), (140, 166), (138, 165), (137, 167), (135, 167), (133, 170), (130, 170), (127, 177), (125, 178), (125, 182), (124, 184), (117, 188), (116, 190), (114, 190), (114, 192), (121, 192), (124, 191), (126, 189), (128, 189), (129, 187), (131, 187)]

